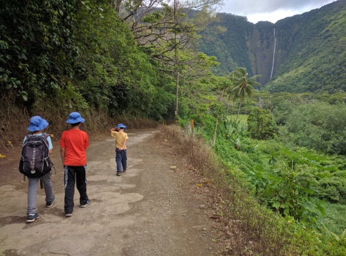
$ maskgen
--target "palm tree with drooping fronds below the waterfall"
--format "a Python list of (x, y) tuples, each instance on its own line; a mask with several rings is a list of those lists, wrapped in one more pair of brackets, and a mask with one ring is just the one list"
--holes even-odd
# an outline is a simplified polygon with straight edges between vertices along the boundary
[(261, 83), (256, 81), (256, 78), (260, 76), (261, 75), (255, 75), (248, 78), (246, 68), (236, 68), (230, 73), (230, 79), (233, 81), (234, 86), (232, 88), (228, 88), (227, 92), (230, 97), (233, 97), (233, 100), (239, 99), (237, 119), (240, 112), (240, 106), (242, 106), (242, 103), (244, 102), (245, 95), (248, 95), (248, 97), (253, 97), (253, 86), (261, 86)]

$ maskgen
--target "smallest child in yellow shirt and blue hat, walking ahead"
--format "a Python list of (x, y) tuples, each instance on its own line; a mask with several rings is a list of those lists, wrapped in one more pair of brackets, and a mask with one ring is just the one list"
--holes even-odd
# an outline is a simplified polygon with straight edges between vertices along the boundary
[(116, 138), (116, 176), (120, 176), (121, 173), (126, 173), (127, 168), (127, 153), (126, 153), (126, 141), (129, 139), (127, 133), (125, 133), (127, 126), (124, 124), (118, 124), (116, 128), (111, 128), (111, 136)]

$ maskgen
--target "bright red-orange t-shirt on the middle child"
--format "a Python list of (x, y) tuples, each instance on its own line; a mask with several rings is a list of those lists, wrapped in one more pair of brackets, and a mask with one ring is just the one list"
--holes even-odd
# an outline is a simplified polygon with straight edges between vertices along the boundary
[(70, 129), (62, 132), (60, 146), (65, 148), (65, 166), (85, 166), (86, 148), (89, 146), (88, 134), (82, 130)]

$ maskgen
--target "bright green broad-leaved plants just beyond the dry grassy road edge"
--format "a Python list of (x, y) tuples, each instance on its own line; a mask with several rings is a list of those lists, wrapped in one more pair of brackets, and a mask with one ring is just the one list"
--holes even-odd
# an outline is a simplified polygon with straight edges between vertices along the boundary
[[(253, 110), (270, 114), (269, 110)], [(199, 132), (211, 140), (215, 120), (210, 115), (192, 117), (203, 127)], [(248, 117), (248, 125), (253, 118)], [(239, 177), (262, 204), (307, 226), (318, 228), (325, 214), (321, 199), (343, 202), (345, 197), (345, 172), (339, 169), (345, 167), (342, 159), (338, 164), (337, 159), (304, 148), (291, 150), (275, 141), (258, 141), (254, 147), (241, 121), (226, 119), (213, 148), (230, 170), (241, 171)]]

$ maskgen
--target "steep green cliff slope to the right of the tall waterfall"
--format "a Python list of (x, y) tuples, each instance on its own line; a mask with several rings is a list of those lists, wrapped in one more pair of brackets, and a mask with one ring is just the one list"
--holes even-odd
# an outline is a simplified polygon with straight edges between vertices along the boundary
[(346, 91), (346, 1), (275, 23), (272, 92)]

